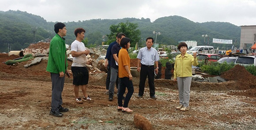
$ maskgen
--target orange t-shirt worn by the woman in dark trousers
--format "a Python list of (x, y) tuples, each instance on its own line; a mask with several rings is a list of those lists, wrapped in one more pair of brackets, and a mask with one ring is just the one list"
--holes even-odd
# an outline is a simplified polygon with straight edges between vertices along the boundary
[(119, 78), (129, 77), (128, 72), (124, 66), (128, 66), (130, 69), (130, 56), (126, 49), (121, 48), (118, 53), (118, 76)]

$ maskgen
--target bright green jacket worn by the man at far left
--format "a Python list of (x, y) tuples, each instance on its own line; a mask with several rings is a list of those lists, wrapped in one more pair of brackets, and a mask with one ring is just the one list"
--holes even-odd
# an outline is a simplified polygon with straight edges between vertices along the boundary
[(46, 67), (46, 71), (51, 73), (59, 74), (67, 70), (67, 55), (66, 55), (66, 45), (65, 39), (56, 34), (51, 43), (49, 50), (49, 59)]

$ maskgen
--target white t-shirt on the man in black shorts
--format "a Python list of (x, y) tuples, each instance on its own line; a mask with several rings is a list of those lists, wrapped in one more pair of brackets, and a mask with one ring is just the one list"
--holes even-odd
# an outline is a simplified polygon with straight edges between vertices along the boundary
[[(82, 52), (86, 50), (83, 42), (80, 42), (77, 40), (72, 42), (70, 48), (71, 48), (71, 51), (75, 51), (75, 52)], [(85, 54), (83, 54), (80, 56), (73, 57), (72, 67), (85, 67), (86, 63), (87, 63), (87, 57)]]

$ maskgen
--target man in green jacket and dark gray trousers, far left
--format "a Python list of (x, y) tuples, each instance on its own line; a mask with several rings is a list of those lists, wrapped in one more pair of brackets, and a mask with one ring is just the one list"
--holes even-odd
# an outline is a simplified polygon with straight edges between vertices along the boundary
[(65, 71), (67, 70), (67, 55), (65, 38), (67, 28), (64, 23), (58, 22), (54, 25), (56, 35), (50, 43), (49, 59), (46, 71), (51, 73), (52, 78), (52, 105), (50, 115), (62, 117), (61, 112), (67, 112), (68, 108), (63, 108), (61, 93), (64, 88)]

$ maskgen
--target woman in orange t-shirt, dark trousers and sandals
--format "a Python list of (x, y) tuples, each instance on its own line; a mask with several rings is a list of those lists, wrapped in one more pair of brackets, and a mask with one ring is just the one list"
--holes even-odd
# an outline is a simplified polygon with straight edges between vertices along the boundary
[[(132, 74), (130, 71), (130, 57), (127, 49), (130, 48), (130, 39), (127, 37), (122, 38), (120, 42), (120, 46), (122, 47), (118, 53), (118, 76), (120, 78), (120, 91), (118, 94), (118, 110), (122, 110), (125, 112), (132, 112), (131, 109), (128, 108), (128, 103), (132, 97), (134, 92), (133, 84), (132, 84)], [(122, 97), (125, 93), (125, 89), (128, 89), (128, 93), (125, 96), (124, 104), (122, 101)]]

